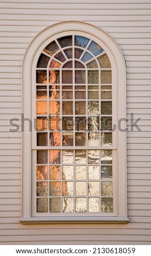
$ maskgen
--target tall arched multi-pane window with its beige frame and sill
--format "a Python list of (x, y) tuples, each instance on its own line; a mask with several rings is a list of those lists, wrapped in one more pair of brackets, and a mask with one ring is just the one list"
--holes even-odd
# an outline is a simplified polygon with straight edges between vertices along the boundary
[(32, 132), (24, 124), (21, 221), (127, 222), (125, 66), (113, 39), (58, 23), (31, 43), (23, 68)]

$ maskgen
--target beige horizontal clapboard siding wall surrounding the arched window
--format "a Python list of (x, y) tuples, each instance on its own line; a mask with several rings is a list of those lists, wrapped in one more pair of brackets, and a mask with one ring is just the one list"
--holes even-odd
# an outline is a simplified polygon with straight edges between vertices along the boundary
[[(0, 1), (0, 244), (151, 245), (151, 0)], [(31, 40), (56, 22), (99, 26), (119, 44), (127, 64), (127, 117), (143, 132), (127, 133), (128, 224), (21, 224), (22, 60)], [(128, 123), (130, 129), (130, 121)], [(135, 129), (136, 130), (136, 129)]]

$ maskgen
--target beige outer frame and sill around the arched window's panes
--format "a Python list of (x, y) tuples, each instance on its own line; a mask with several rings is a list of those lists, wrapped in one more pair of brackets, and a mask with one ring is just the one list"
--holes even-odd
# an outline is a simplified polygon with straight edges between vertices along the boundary
[[(22, 223), (56, 223), (56, 222), (102, 222), (102, 223), (127, 223), (127, 162), (126, 162), (126, 121), (122, 121), (121, 129), (114, 131), (113, 147), (117, 151), (117, 175), (114, 180), (116, 186), (116, 215), (90, 215), (90, 216), (32, 216), (32, 193), (35, 187), (32, 177), (32, 154), (31, 150), (34, 141), (32, 132), (29, 131), (29, 119), (32, 120), (32, 111), (35, 101), (35, 95), (32, 95), (32, 86), (35, 86), (35, 69), (38, 57), (51, 41), (61, 36), (72, 33), (81, 34), (96, 41), (104, 48), (112, 68), (112, 80), (115, 88), (113, 89), (113, 123), (118, 120), (126, 120), (126, 65), (119, 46), (107, 33), (100, 28), (84, 22), (61, 22), (50, 26), (39, 33), (29, 45), (23, 60), (23, 106), (24, 113), (24, 131), (22, 133), (22, 217), (19, 220)], [(116, 99), (116, 101), (115, 101)], [(118, 127), (117, 127), (118, 128)], [(32, 120), (32, 129), (34, 124)]]

